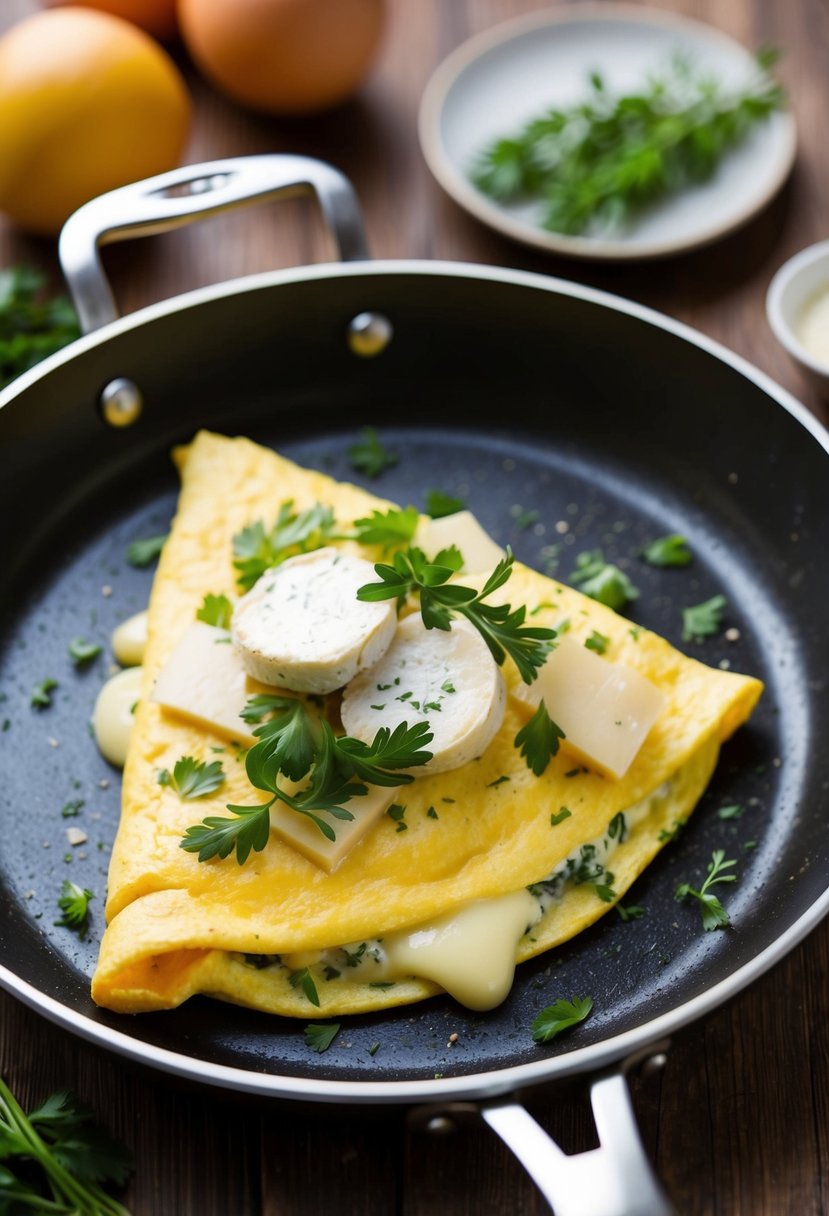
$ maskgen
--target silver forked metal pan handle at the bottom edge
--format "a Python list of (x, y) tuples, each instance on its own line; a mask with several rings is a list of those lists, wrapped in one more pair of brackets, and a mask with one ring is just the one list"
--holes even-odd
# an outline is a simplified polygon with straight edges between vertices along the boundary
[(624, 1074), (597, 1079), (590, 1093), (599, 1148), (571, 1156), (515, 1100), (487, 1103), (480, 1114), (554, 1216), (675, 1216), (642, 1147)]

